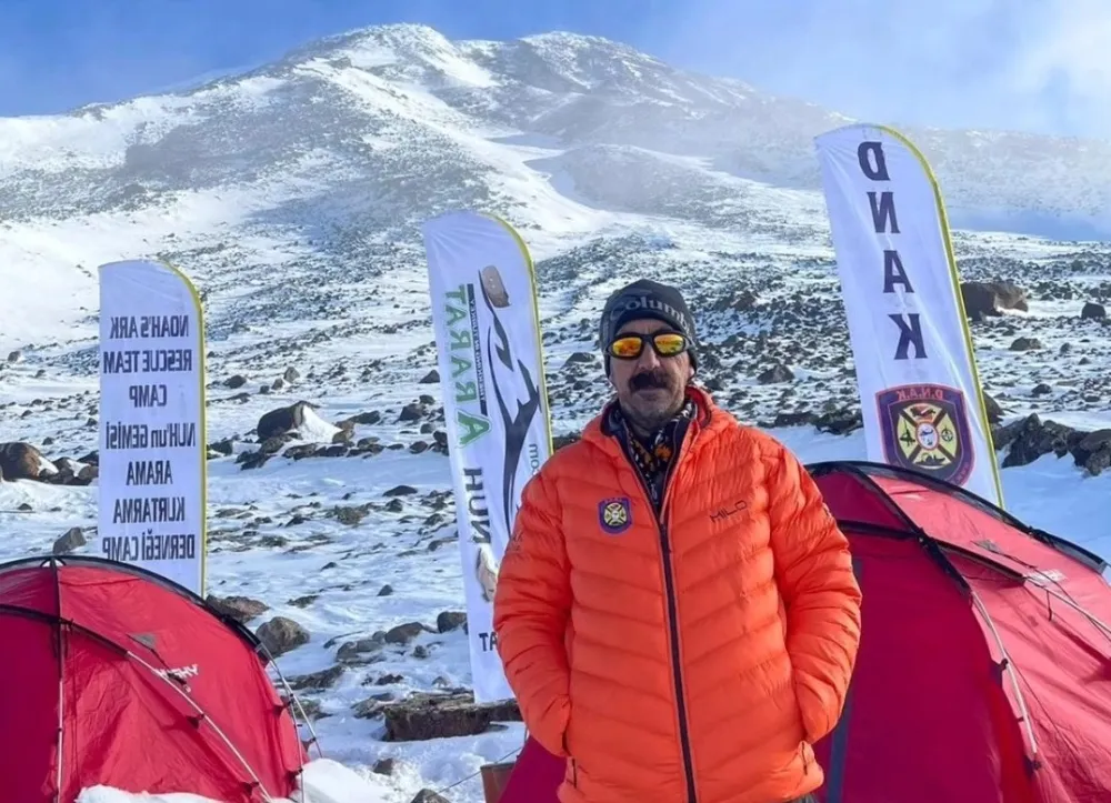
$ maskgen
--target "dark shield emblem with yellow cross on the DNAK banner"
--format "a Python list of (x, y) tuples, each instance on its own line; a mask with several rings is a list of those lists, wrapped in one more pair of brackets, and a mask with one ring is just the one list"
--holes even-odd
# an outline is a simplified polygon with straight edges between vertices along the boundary
[(875, 394), (889, 463), (962, 485), (975, 454), (964, 394), (939, 384), (909, 384)]

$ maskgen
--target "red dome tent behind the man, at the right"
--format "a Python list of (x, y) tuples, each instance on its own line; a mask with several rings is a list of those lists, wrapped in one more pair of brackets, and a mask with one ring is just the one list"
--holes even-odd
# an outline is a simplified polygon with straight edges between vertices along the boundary
[[(922, 474), (808, 469), (863, 591), (845, 711), (815, 751), (822, 803), (1111, 801), (1104, 561)], [(561, 764), (533, 744), (510, 783)], [(557, 803), (557, 785), (502, 803)]]

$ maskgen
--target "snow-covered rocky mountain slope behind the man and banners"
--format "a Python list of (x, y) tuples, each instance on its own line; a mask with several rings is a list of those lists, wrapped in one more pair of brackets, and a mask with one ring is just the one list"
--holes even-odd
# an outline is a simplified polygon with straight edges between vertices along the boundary
[[(0, 120), (0, 442), (50, 460), (94, 450), (96, 267), (157, 255), (188, 272), (222, 455), (212, 591), (256, 601), (252, 626), (304, 628), (280, 662), (326, 752), (360, 769), (397, 757), (383, 783), (408, 803), (520, 744), (513, 729), (380, 739), (384, 700), (470, 681), (418, 225), (472, 208), (526, 238), (558, 434), (607, 395), (604, 297), (651, 275), (688, 293), (724, 403), (805, 460), (862, 456), (812, 145), (845, 122), (603, 39), (452, 42), (419, 26), (317, 41), (179, 94)], [(957, 233), (964, 278), (1029, 298), (973, 325), (1012, 512), (1111, 554), (1111, 480), (1077, 464), (1070, 429), (1111, 428), (1111, 248), (1035, 237), (1111, 230), (1111, 142), (903, 130), (954, 224), (1000, 230)], [(259, 418), (298, 401), (347, 421), (351, 441), (260, 453)], [(94, 524), (94, 485), (0, 484), (0, 559), (49, 551)], [(479, 801), (481, 786), (444, 794)]]

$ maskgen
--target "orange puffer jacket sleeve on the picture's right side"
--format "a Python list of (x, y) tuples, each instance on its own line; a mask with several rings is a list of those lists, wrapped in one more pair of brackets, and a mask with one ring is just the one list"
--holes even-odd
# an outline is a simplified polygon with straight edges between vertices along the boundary
[(787, 605), (787, 649), (803, 725), (813, 743), (837, 725), (860, 646), (861, 591), (849, 540), (817, 483), (789, 450), (771, 456), (775, 575)]

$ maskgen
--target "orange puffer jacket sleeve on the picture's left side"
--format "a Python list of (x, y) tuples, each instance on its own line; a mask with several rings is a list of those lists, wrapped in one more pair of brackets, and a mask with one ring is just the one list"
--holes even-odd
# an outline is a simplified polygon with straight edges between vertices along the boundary
[(549, 483), (541, 471), (521, 493), (498, 572), (493, 628), (526, 727), (548, 752), (565, 756), (570, 669), (564, 636), (571, 579), (559, 502)]

